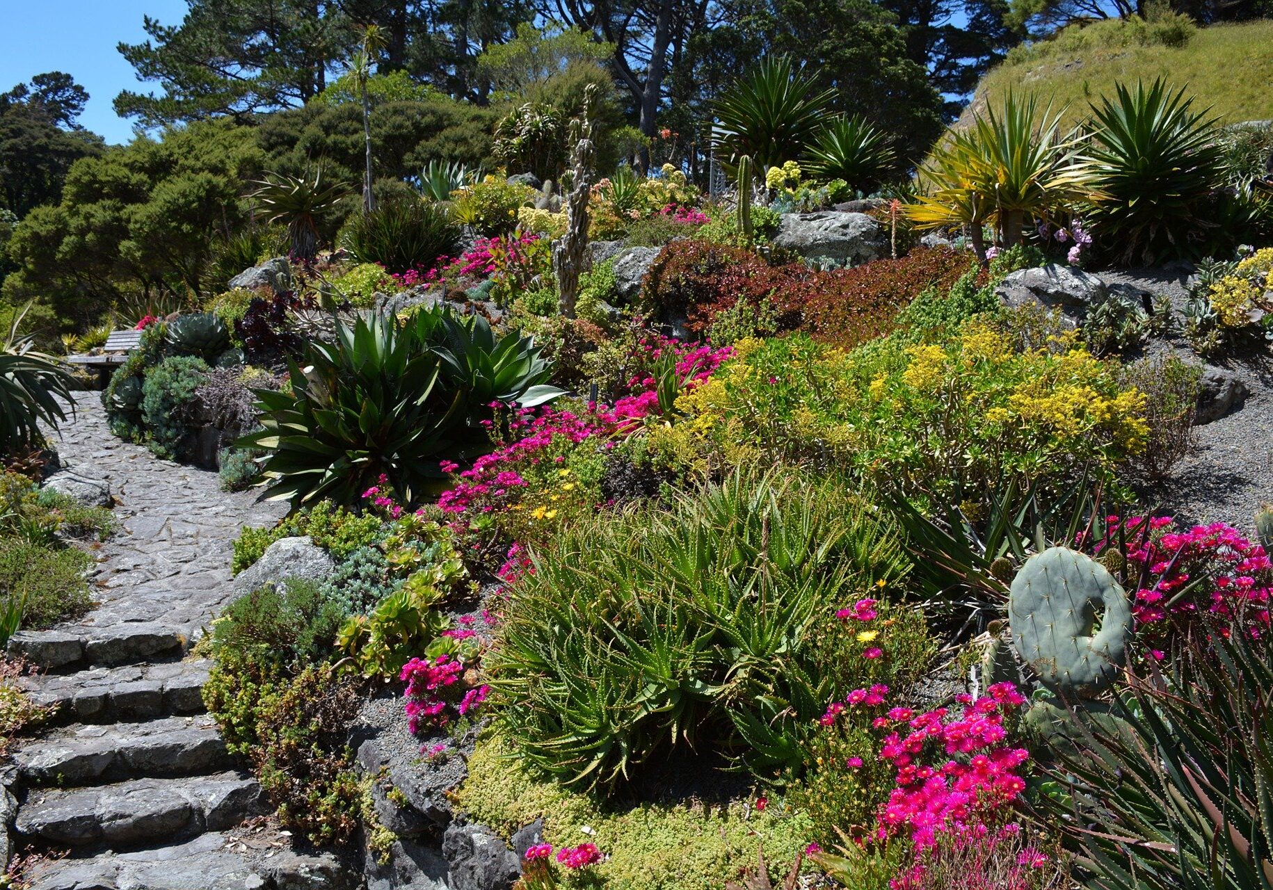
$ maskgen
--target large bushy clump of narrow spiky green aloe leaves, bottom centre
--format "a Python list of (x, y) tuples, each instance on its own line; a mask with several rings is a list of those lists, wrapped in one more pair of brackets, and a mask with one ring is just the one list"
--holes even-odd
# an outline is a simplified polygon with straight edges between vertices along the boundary
[(852, 634), (857, 652), (844, 648), (836, 609), (905, 559), (836, 484), (736, 474), (666, 509), (564, 528), (533, 564), (486, 667), (527, 761), (577, 787), (682, 749), (793, 773), (827, 702), (904, 686), (925, 661), (918, 616), (872, 643), (885, 657), (862, 658)]

